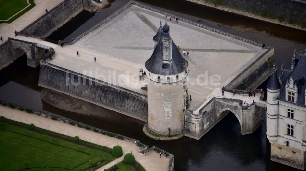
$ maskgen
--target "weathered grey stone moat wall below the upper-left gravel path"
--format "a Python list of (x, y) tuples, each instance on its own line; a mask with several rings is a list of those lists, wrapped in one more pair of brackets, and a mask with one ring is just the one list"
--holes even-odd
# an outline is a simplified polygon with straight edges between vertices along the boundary
[(93, 12), (95, 6), (91, 0), (64, 0), (49, 12), (39, 17), (33, 23), (22, 29), (19, 34), (34, 34), (38, 36), (47, 36), (56, 28), (65, 24), (69, 18), (76, 16), (81, 11)]

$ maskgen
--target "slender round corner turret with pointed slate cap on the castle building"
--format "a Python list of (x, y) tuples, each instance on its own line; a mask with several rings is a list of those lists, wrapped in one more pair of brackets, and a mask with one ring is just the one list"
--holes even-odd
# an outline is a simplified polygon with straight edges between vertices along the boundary
[(273, 72), (267, 85), (267, 138), (271, 144), (278, 139), (278, 97), (281, 85), (275, 73), (275, 63)]

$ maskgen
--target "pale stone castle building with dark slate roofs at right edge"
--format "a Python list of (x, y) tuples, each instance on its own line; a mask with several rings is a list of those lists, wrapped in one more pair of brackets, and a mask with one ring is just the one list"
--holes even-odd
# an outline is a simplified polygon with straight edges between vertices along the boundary
[(271, 160), (306, 168), (306, 51), (293, 54), (291, 68), (282, 65), (267, 85), (267, 138)]

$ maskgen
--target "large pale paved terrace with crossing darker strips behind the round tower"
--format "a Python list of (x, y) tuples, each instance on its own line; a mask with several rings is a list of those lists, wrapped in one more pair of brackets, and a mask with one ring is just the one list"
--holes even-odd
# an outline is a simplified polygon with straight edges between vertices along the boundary
[[(152, 37), (158, 30), (160, 19), (164, 18), (159, 13), (131, 5), (75, 44), (63, 48), (32, 37), (14, 38), (53, 47), (55, 56), (48, 61), (51, 64), (146, 95), (147, 91), (141, 87), (147, 84), (147, 79), (138, 80), (139, 69), (145, 70), (144, 63), (153, 52)], [(227, 85), (267, 51), (197, 26), (175, 23), (174, 19), (168, 20), (167, 24), (170, 36), (181, 52), (190, 53), (189, 58), (185, 56), (189, 62), (190, 110), (198, 109), (215, 88)], [(80, 57), (76, 57), (76, 51)], [(219, 81), (210, 79), (218, 76)]]

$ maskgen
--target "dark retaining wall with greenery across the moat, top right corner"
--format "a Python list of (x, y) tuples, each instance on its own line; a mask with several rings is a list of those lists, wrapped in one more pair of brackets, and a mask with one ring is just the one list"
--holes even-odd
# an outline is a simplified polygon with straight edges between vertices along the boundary
[[(263, 19), (267, 22), (306, 27), (306, 1), (304, 0), (187, 0), (239, 15)], [(297, 26), (298, 25), (298, 26)]]

